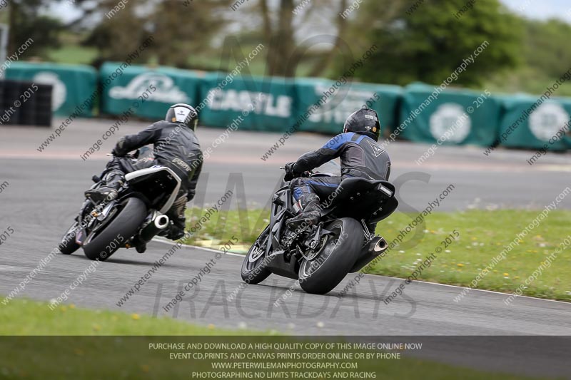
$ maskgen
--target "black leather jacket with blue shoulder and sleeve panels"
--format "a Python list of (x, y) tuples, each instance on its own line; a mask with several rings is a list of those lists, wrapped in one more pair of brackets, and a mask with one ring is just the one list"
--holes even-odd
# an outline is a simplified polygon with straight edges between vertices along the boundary
[(342, 175), (370, 180), (388, 180), (390, 175), (388, 153), (372, 138), (353, 132), (340, 133), (322, 148), (305, 153), (295, 162), (293, 171), (303, 173), (333, 158), (340, 158)]

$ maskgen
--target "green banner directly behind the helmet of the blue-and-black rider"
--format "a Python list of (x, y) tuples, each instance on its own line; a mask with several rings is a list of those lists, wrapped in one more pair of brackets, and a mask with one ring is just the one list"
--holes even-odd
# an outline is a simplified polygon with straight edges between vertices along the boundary
[(320, 78), (297, 78), (295, 90), (296, 129), (322, 133), (340, 133), (348, 116), (363, 106), (377, 111), (381, 133), (391, 130), (398, 120), (398, 102), (403, 93), (399, 86)]

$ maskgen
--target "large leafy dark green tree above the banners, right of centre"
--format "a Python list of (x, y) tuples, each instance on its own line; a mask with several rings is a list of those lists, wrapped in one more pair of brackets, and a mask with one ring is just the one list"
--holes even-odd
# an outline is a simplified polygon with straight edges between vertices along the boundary
[(365, 24), (370, 28), (363, 28), (363, 22), (353, 25), (365, 31), (370, 45), (377, 46), (355, 75), (376, 83), (441, 83), (484, 41), (489, 46), (455, 83), (477, 86), (490, 73), (517, 66), (522, 46), (520, 19), (498, 0), (478, 1), (473, 9), (458, 14), (465, 5), (465, 0), (428, 0), (411, 9), (405, 1), (369, 2), (360, 12), (365, 17), (378, 14), (385, 6), (392, 7), (394, 14), (391, 19)]

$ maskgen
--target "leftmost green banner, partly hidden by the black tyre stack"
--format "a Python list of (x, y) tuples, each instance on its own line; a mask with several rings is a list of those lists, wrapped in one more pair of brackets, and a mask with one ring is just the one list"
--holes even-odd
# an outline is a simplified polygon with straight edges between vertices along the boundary
[(97, 73), (91, 66), (14, 62), (6, 69), (6, 79), (51, 85), (51, 109), (55, 115), (93, 114)]

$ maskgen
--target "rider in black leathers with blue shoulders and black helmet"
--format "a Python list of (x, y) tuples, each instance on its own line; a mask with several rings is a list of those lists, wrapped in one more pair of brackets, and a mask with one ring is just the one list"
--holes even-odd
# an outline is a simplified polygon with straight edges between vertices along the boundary
[[(368, 180), (388, 180), (390, 158), (378, 144), (380, 122), (370, 108), (360, 108), (349, 115), (343, 125), (343, 133), (330, 139), (322, 148), (308, 152), (295, 163), (285, 165), (285, 181), (291, 181), (293, 197), (302, 212), (291, 218), (286, 225), (316, 225), (320, 220), (320, 199), (324, 200), (337, 190), (345, 178), (359, 177)], [(303, 178), (308, 170), (317, 168), (329, 160), (340, 158), (340, 177)], [(376, 223), (368, 225), (375, 233)]]

